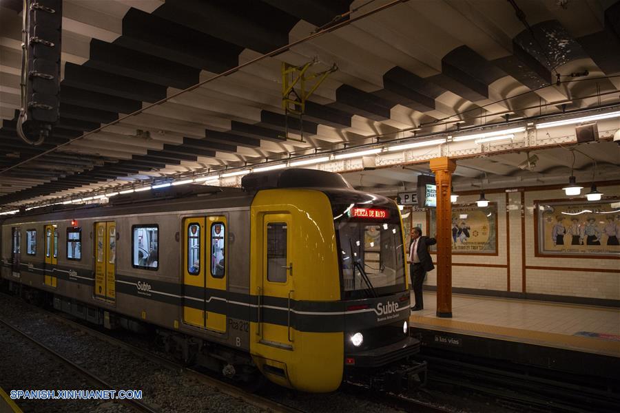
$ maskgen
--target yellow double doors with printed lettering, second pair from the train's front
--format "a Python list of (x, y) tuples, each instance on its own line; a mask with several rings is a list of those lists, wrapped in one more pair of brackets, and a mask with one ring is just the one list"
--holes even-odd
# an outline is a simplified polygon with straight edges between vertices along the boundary
[(116, 299), (116, 222), (95, 223), (95, 290), (96, 298)]

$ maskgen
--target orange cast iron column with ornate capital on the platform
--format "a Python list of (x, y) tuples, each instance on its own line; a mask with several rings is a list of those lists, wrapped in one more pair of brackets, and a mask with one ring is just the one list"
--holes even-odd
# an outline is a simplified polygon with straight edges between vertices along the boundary
[[(452, 204), (450, 189), (456, 163), (431, 159), (437, 184), (437, 317), (452, 317)], [(432, 234), (428, 234), (432, 236)]]

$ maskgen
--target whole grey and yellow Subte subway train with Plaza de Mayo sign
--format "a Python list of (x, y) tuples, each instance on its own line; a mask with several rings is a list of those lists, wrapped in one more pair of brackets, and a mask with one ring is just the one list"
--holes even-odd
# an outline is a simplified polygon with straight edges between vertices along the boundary
[(1, 223), (14, 293), (105, 328), (156, 330), (226, 377), (331, 392), (415, 385), (397, 205), (336, 173), (250, 173), (21, 212)]

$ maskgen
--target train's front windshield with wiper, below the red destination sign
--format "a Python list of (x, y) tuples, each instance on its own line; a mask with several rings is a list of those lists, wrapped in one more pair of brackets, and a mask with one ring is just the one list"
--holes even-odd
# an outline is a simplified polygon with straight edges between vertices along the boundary
[(343, 298), (379, 297), (405, 289), (400, 222), (335, 222)]

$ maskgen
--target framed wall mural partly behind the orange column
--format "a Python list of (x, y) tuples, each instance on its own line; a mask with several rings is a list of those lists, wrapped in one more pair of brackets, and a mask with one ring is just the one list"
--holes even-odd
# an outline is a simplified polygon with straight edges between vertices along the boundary
[[(429, 236), (437, 232), (437, 214), (430, 211)], [(431, 247), (436, 251), (436, 247)], [(488, 207), (452, 206), (452, 253), (497, 255), (497, 203)]]

